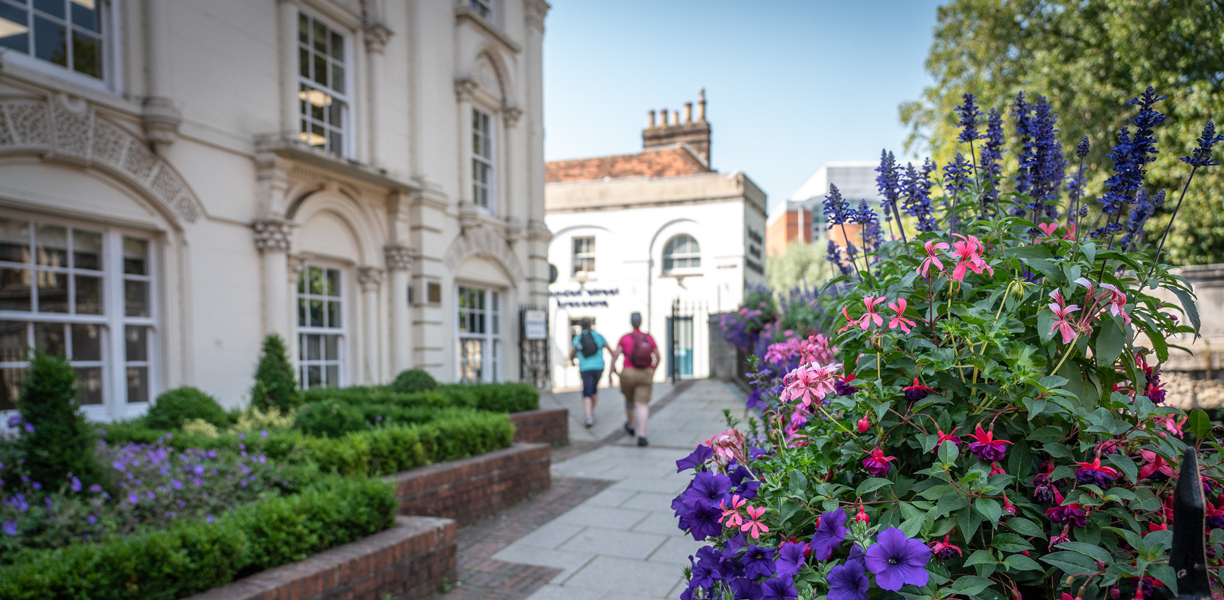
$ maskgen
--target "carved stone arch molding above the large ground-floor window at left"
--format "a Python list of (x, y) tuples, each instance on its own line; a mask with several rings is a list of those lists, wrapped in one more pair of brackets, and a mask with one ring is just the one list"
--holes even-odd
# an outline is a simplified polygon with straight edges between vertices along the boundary
[(65, 96), (0, 100), (0, 154), (38, 154), (115, 175), (187, 223), (203, 212), (200, 198), (170, 163), (144, 141)]

